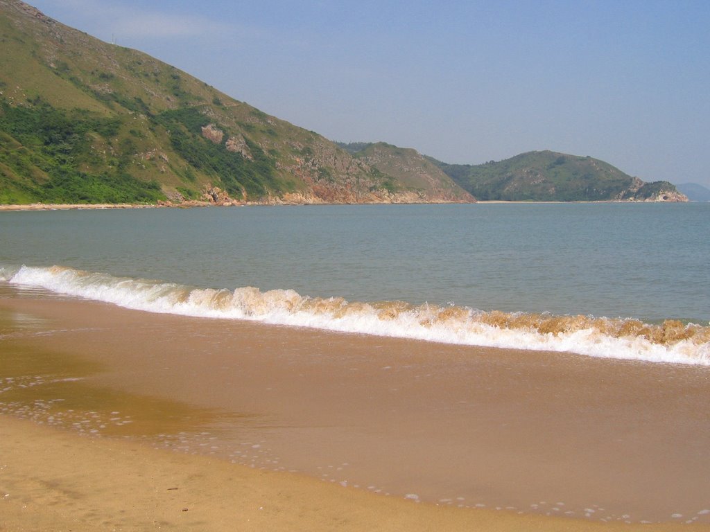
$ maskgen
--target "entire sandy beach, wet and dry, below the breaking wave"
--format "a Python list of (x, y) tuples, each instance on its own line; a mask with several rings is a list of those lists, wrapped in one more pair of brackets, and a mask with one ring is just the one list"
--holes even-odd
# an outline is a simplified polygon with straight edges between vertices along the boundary
[(0, 296), (0, 530), (710, 530), (704, 368)]

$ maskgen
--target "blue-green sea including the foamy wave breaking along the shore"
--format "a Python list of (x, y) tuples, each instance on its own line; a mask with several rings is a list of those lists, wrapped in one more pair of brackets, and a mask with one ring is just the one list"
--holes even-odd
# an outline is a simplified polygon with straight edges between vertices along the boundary
[(710, 203), (11, 211), (0, 283), (159, 313), (710, 365)]

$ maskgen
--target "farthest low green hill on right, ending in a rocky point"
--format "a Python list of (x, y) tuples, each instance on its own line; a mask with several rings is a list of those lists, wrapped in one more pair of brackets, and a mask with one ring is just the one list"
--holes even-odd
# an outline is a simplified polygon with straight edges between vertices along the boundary
[(483, 165), (432, 162), (481, 201), (687, 201), (669, 182), (645, 183), (592, 157), (541, 151)]

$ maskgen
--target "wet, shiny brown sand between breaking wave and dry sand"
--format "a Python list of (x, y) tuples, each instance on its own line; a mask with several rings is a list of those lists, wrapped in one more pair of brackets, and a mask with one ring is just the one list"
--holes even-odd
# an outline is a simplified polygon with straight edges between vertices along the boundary
[(368, 507), (495, 516), (485, 529), (710, 529), (704, 367), (146, 314), (9, 287), (2, 323), (14, 362), (0, 370), (0, 412), (72, 428), (87, 436), (77, 445), (126, 437), (148, 444), (141, 453), (181, 451), (165, 460), (320, 478), (318, 489)]

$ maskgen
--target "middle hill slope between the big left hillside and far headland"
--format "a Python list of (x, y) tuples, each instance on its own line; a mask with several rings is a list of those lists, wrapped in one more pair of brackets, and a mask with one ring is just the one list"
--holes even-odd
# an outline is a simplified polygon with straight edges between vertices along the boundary
[(338, 143), (358, 160), (393, 177), (396, 182), (422, 197), (435, 196), (447, 201), (476, 201), (454, 183), (437, 165), (412, 148), (387, 143)]

